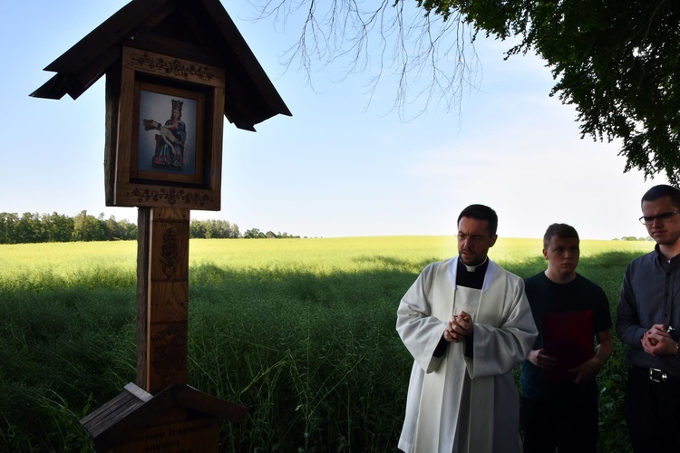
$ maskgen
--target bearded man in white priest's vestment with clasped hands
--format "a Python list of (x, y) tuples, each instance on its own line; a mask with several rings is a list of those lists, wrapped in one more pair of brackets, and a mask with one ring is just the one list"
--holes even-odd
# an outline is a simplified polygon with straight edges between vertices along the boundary
[(458, 217), (458, 255), (427, 265), (403, 296), (396, 330), (413, 355), (399, 448), (520, 451), (512, 376), (536, 325), (524, 283), (489, 260), (498, 217), (471, 205)]

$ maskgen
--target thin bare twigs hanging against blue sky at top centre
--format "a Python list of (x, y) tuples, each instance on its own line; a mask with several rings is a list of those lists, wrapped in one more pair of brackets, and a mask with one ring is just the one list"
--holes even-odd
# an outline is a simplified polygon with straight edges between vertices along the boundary
[[(396, 81), (391, 111), (401, 118), (422, 115), (435, 101), (445, 111), (460, 109), (462, 96), (479, 82), (474, 32), (461, 14), (447, 20), (424, 13), (403, 0), (251, 0), (255, 20), (270, 19), (283, 32), (294, 27), (298, 38), (282, 55), (288, 71), (313, 74), (341, 64), (338, 78), (368, 73), (367, 103), (381, 82)], [(414, 111), (412, 111), (414, 109)]]

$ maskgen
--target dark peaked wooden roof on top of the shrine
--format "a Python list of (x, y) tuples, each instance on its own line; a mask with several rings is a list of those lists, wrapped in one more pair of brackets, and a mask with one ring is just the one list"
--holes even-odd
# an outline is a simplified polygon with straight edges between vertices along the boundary
[(120, 63), (123, 46), (225, 68), (224, 114), (239, 129), (291, 116), (219, 0), (132, 0), (50, 63), (56, 74), (31, 96), (77, 99)]

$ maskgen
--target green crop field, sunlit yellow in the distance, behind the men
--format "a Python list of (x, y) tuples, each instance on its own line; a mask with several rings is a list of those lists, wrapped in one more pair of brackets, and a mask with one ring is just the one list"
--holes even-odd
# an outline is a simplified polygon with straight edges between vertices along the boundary
[[(578, 272), (612, 308), (648, 242), (581, 242)], [(544, 268), (538, 239), (504, 239), (492, 259)], [(452, 236), (193, 239), (189, 384), (248, 406), (222, 451), (394, 451), (412, 359), (394, 331), (423, 266)], [(78, 424), (135, 381), (135, 242), (0, 246), (0, 450), (89, 451)], [(626, 360), (601, 386), (601, 451), (628, 451)]]

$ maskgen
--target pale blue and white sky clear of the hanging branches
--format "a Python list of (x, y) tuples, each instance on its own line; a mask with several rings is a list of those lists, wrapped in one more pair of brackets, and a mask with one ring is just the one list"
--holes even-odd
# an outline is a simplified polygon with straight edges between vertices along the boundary
[[(0, 212), (89, 214), (136, 222), (135, 207), (104, 202), (104, 77), (76, 101), (29, 97), (62, 53), (127, 2), (23, 0), (0, 16)], [(503, 60), (508, 43), (480, 40), (479, 90), (460, 116), (436, 103), (403, 121), (390, 112), (385, 79), (368, 101), (376, 71), (344, 80), (336, 66), (284, 70), (281, 56), (299, 30), (252, 21), (246, 2), (223, 1), (293, 116), (238, 130), (225, 120), (221, 211), (192, 210), (241, 231), (300, 236), (452, 235), (463, 207), (487, 204), (499, 235), (540, 237), (566, 222), (581, 238), (646, 236), (639, 199), (665, 178), (624, 174), (617, 143), (580, 139), (576, 113), (550, 98), (549, 69), (534, 56)], [(340, 82), (338, 82), (340, 81)], [(412, 106), (417, 111), (419, 104)]]

